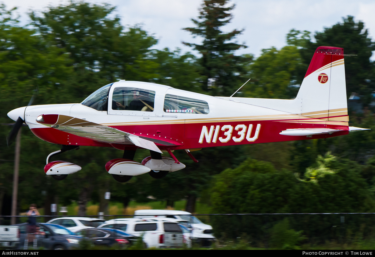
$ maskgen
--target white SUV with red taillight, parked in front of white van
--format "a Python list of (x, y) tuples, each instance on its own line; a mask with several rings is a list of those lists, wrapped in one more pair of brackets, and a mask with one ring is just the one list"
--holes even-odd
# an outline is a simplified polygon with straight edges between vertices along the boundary
[(184, 237), (177, 222), (166, 221), (106, 221), (99, 227), (121, 228), (126, 233), (141, 236), (145, 247), (183, 247)]

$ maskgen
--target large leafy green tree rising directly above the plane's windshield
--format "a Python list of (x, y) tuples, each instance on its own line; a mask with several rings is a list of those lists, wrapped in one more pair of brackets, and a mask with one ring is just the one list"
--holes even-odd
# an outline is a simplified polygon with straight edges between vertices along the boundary
[(125, 30), (114, 10), (110, 4), (70, 1), (30, 13), (46, 44), (71, 58), (75, 73), (68, 90), (79, 102), (118, 79), (151, 82), (158, 76), (150, 50), (157, 40), (140, 27)]

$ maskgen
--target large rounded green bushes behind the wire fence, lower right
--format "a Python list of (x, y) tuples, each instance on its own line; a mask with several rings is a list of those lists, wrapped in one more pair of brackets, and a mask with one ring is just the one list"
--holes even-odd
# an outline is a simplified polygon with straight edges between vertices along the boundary
[[(269, 163), (248, 159), (236, 169), (227, 169), (214, 177), (210, 188), (213, 213), (319, 213), (372, 212), (374, 194), (368, 190), (359, 164), (332, 155), (320, 157), (306, 172), (313, 183), (298, 180), (288, 170), (276, 171)], [(335, 169), (333, 169), (335, 167)], [(333, 172), (335, 170), (335, 172)], [(312, 174), (315, 174), (311, 179)], [(253, 242), (267, 237), (270, 226), (282, 216), (213, 217), (218, 237), (236, 238), (246, 233)], [(330, 238), (329, 217), (290, 218), (290, 226), (303, 230), (309, 239)], [(347, 227), (357, 231), (361, 217), (352, 217)], [(311, 223), (317, 226), (312, 227)], [(233, 230), (233, 227), (236, 229)], [(292, 231), (293, 232), (293, 231)], [(293, 234), (290, 232), (291, 234)]]

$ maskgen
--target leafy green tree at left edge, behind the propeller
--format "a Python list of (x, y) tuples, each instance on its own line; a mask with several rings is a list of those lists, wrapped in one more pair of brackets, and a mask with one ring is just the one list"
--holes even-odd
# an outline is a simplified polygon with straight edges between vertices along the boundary
[[(43, 38), (34, 29), (19, 26), (18, 17), (13, 16), (13, 11), (7, 10), (4, 4), (0, 5), (0, 102), (4, 108), (0, 110), (0, 122), (10, 123), (6, 113), (20, 106), (26, 106), (33, 91), (39, 88), (36, 103), (51, 103), (51, 99), (58, 98), (58, 87), (66, 85), (67, 78), (72, 73), (71, 60), (63, 55), (61, 49), (54, 45), (46, 45)], [(13, 146), (7, 147), (6, 134), (10, 127), (1, 125), (0, 160), (1, 160), (1, 185), (0, 202), (2, 197), (11, 195), (13, 179)], [(43, 166), (38, 167), (36, 160), (40, 160), (41, 152), (48, 149), (40, 140), (34, 142), (30, 131), (22, 133), (22, 158), (20, 163), (19, 180), (19, 206), (28, 206), (32, 202), (42, 206), (41, 191), (46, 187), (43, 178)], [(36, 139), (36, 138), (35, 138)], [(42, 151), (37, 151), (43, 146)], [(48, 155), (48, 154), (47, 154)], [(46, 155), (45, 155), (46, 156)], [(42, 157), (40, 163), (45, 162)], [(30, 183), (34, 176), (41, 179)], [(25, 183), (25, 180), (28, 183)], [(25, 197), (26, 196), (26, 197)], [(27, 199), (26, 199), (27, 198)], [(0, 203), (1, 204), (1, 203)]]

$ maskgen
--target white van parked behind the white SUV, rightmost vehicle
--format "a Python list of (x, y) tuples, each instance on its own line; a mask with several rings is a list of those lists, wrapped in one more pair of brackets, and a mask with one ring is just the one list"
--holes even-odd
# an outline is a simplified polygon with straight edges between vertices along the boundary
[(194, 217), (190, 212), (174, 211), (174, 210), (136, 210), (134, 218), (174, 218), (178, 220), (189, 221), (189, 227), (194, 233), (212, 234), (212, 227), (204, 224), (198, 218)]

